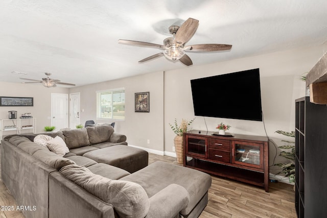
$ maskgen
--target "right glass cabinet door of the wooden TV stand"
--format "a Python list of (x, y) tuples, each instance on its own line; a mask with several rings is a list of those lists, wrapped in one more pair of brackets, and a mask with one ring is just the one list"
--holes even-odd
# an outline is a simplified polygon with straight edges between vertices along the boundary
[(249, 142), (233, 142), (233, 163), (263, 169), (263, 145)]

